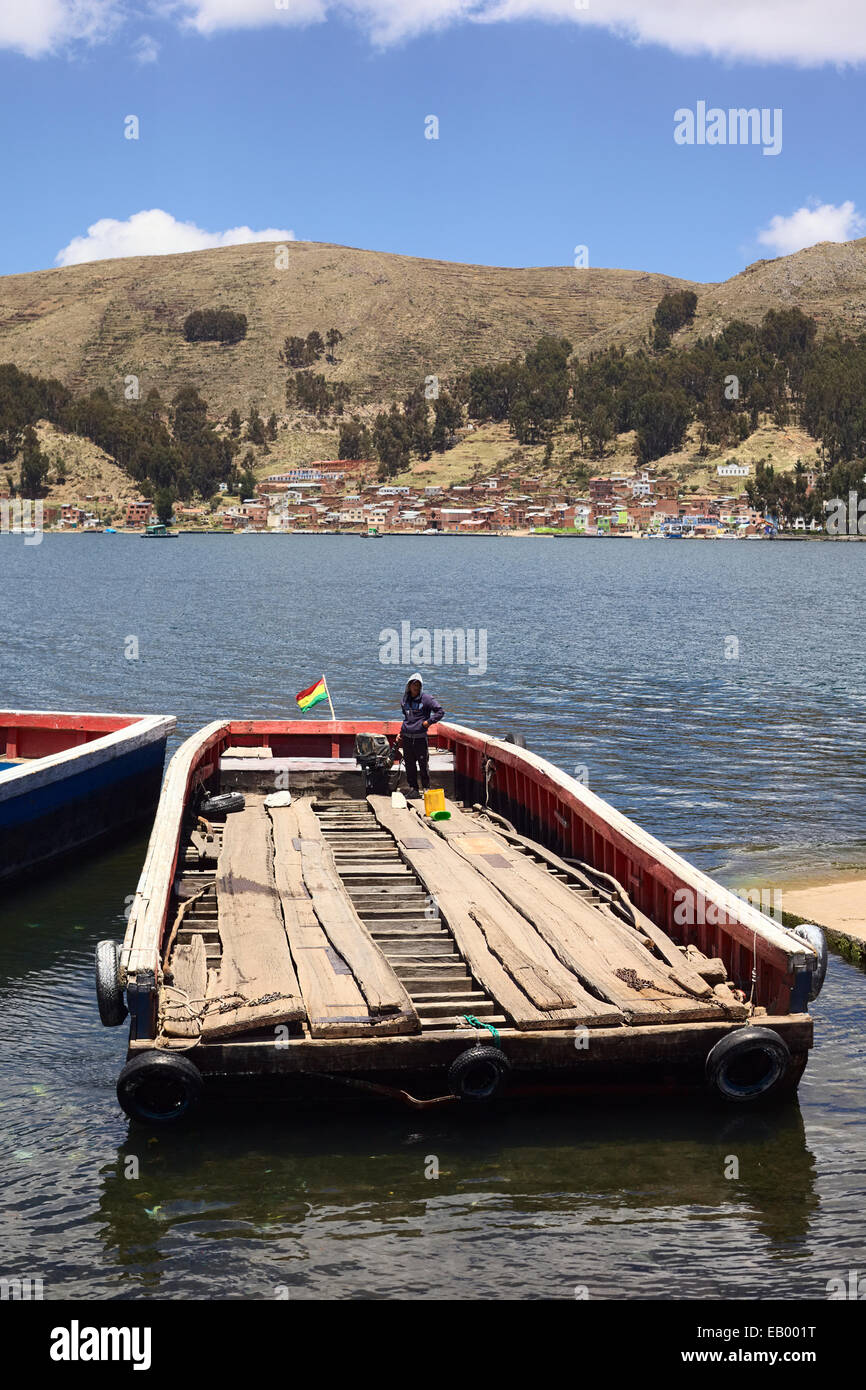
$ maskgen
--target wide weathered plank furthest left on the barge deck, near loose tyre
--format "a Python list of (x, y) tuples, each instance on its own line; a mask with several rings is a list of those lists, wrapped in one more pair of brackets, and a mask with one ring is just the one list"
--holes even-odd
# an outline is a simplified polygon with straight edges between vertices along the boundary
[(246, 809), (225, 823), (217, 908), (222, 960), (209, 979), (203, 1040), (302, 1019), (300, 986), (274, 881), (271, 821), (261, 801), (247, 799)]

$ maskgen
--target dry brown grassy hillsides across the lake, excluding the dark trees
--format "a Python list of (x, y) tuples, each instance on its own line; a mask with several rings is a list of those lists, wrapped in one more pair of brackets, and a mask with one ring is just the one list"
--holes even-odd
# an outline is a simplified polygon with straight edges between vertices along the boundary
[[(660, 296), (688, 285), (634, 271), (452, 265), (313, 243), (292, 243), (288, 268), (277, 270), (274, 250), (235, 246), (0, 279), (0, 363), (57, 375), (76, 395), (104, 386), (120, 416), (128, 375), (139, 378), (142, 395), (156, 386), (164, 399), (182, 384), (196, 385), (211, 420), (224, 421), (234, 407), (243, 416), (252, 404), (263, 414), (274, 410), (278, 431), (270, 448), (250, 450), (240, 441), (239, 464), (250, 463), (263, 477), (334, 457), (338, 449), (334, 416), (317, 420), (286, 411), (288, 371), (278, 352), (289, 335), (341, 329), (336, 364), (322, 360), (316, 370), (349, 382), (349, 413), (360, 411), (371, 425), (382, 404), (430, 373), (448, 381), (473, 364), (523, 353), (542, 334), (567, 336), (582, 359), (610, 343), (634, 349), (646, 342)], [(733, 318), (758, 324), (769, 309), (798, 307), (816, 318), (819, 334), (833, 328), (853, 334), (866, 329), (866, 238), (758, 261), (724, 284), (688, 288), (698, 295), (698, 309), (694, 324), (676, 335), (677, 350), (720, 332)], [(186, 314), (217, 306), (247, 316), (247, 338), (235, 346), (186, 343)], [(222, 424), (217, 432), (224, 434)], [(57, 434), (46, 421), (40, 436), (53, 464), (58, 456), (65, 460), (65, 474), (51, 468), (50, 500), (101, 493), (122, 503), (138, 491), (115, 467), (111, 442), (103, 452), (74, 432)], [(106, 434), (93, 438), (110, 441)], [(481, 420), (456, 448), (398, 470), (398, 481), (460, 482), (503, 468), (575, 478), (634, 463), (631, 428), (610, 439), (592, 461), (577, 443), (569, 420), (552, 431), (549, 456), (544, 445), (520, 446), (506, 424)], [(787, 473), (798, 459), (810, 461), (816, 455), (817, 443), (803, 430), (774, 425), (762, 411), (758, 431), (741, 442), (728, 435), (727, 443), (709, 453), (699, 450), (692, 424), (680, 450), (659, 457), (657, 464), (685, 491), (724, 492), (730, 484), (716, 474), (720, 461), (748, 463), (753, 470), (765, 460)], [(10, 481), (17, 468), (18, 460), (6, 468)]]

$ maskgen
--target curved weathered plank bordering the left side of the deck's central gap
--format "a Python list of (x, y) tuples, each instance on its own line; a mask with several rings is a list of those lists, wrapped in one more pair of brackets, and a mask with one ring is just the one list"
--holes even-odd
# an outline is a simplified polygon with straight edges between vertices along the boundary
[(391, 1016), (395, 1031), (417, 1031), (421, 1024), (409, 992), (354, 910), (310, 801), (295, 801), (292, 809), (303, 883), (322, 931), (352, 970), (370, 1015)]

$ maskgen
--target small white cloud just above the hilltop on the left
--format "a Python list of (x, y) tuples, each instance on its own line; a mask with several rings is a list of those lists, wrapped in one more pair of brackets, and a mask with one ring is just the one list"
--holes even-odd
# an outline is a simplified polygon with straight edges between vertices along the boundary
[(103, 217), (88, 228), (86, 236), (74, 236), (68, 246), (57, 252), (57, 265), (79, 265), (82, 261), (113, 260), (118, 256), (171, 256), (175, 252), (202, 252), (210, 246), (242, 246), (247, 242), (291, 242), (295, 232), (267, 227), (254, 232), (250, 227), (232, 227), (228, 232), (204, 232), (195, 222), (178, 222), (171, 213), (158, 207), (147, 213), (133, 213), (125, 222)]

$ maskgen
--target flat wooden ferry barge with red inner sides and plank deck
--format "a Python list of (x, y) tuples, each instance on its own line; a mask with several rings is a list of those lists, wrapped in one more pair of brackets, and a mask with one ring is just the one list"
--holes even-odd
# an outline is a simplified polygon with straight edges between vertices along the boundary
[(449, 819), (395, 805), (354, 751), (398, 730), (231, 720), (175, 753), (122, 949), (97, 955), (103, 1022), (131, 1020), (132, 1118), (265, 1080), (413, 1106), (795, 1091), (815, 930), (784, 930), (516, 741), (436, 724)]

